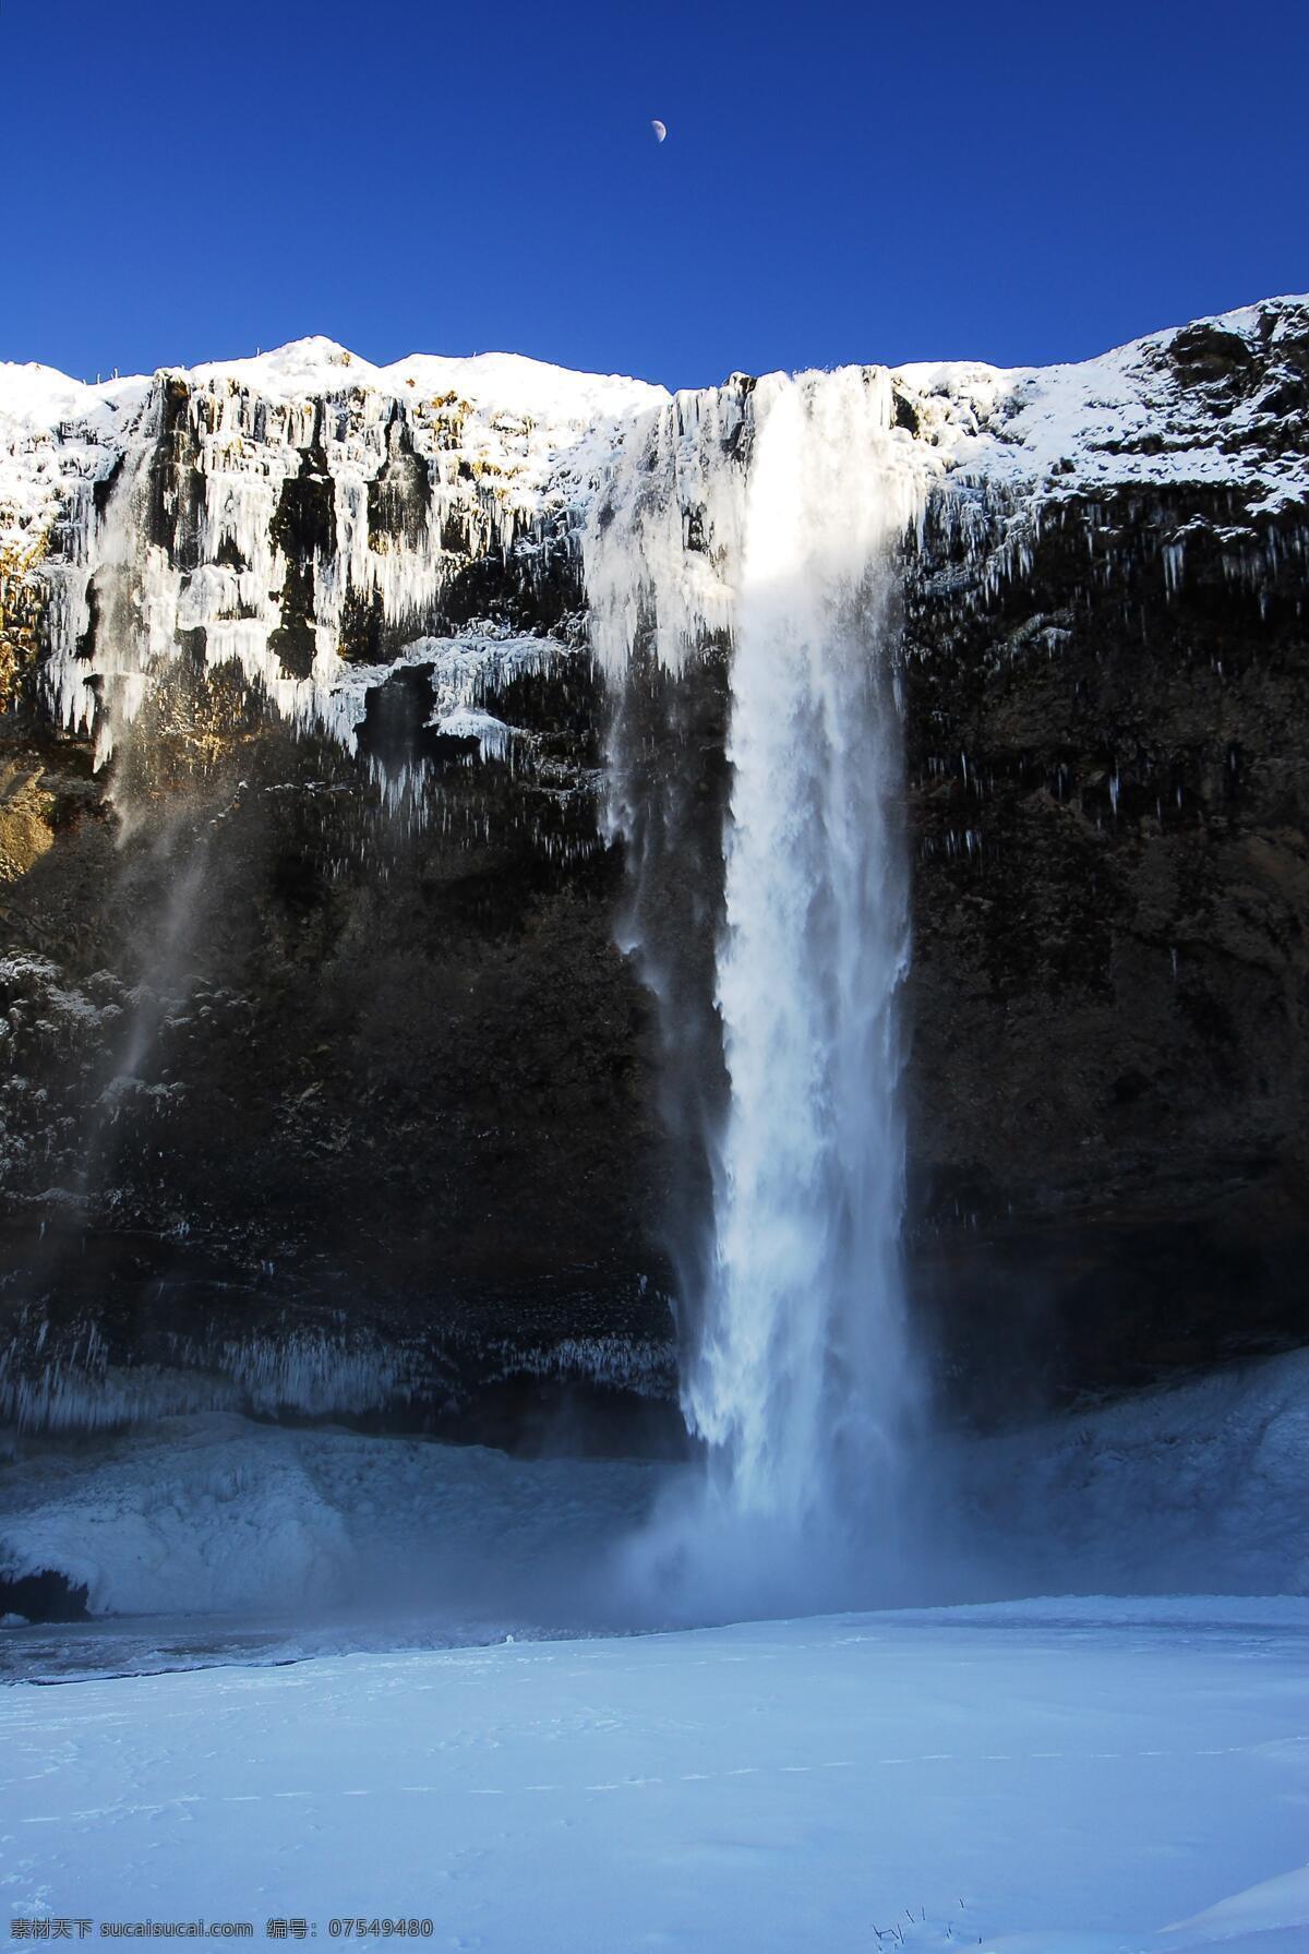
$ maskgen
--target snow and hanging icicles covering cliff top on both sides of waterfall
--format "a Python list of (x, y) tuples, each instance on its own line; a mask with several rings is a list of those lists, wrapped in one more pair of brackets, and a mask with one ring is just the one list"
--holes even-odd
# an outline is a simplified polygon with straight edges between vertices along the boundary
[[(910, 471), (953, 483), (959, 506), (1000, 490), (1006, 537), (1043, 504), (1133, 487), (1229, 487), (1223, 524), (1248, 541), (1270, 516), (1309, 510), (1309, 297), (1077, 365), (879, 373)], [(102, 756), (184, 641), (354, 750), (361, 680), (453, 629), (467, 684), (434, 694), (432, 725), (500, 750), (498, 723), (467, 719), (485, 705), (485, 676), (469, 674), (500, 670), (522, 619), (486, 616), (473, 567), (512, 559), (510, 582), (547, 588), (615, 455), (635, 502), (649, 500), (651, 432), (676, 446), (686, 430), (735, 428), (748, 385), (680, 395), (660, 420), (662, 387), (516, 354), (377, 367), (309, 338), (94, 387), (0, 365), (0, 629), (8, 594), (29, 584), (53, 713), (94, 729)], [(670, 512), (678, 559), (686, 514)], [(1172, 574), (1182, 543), (1166, 541)], [(994, 561), (1010, 557), (1006, 543)], [(553, 629), (559, 608), (529, 629), (541, 621)]]

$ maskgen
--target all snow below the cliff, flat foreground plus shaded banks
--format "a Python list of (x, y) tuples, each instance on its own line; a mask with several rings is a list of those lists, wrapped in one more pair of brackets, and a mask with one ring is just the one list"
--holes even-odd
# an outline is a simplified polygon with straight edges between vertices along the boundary
[(922, 1593), (1047, 1598), (664, 1634), (604, 1630), (686, 1618), (623, 1571), (690, 1467), (229, 1413), (39, 1444), (0, 1567), (102, 1614), (0, 1630), (0, 1933), (1303, 1950), (1307, 1383), (1299, 1352), (924, 1466)]

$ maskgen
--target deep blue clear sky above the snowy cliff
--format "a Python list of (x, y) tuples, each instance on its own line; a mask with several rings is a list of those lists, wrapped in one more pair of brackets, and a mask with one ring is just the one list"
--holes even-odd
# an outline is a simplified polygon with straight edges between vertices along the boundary
[(1309, 287), (1305, 16), (2, 0), (0, 358), (1080, 358)]

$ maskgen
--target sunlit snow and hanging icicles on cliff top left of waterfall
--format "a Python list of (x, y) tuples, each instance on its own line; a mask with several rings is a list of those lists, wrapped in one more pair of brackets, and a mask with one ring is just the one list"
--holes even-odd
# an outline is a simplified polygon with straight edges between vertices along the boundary
[[(43, 588), (53, 715), (107, 758), (199, 639), (209, 666), (234, 660), (283, 717), (354, 748), (369, 682), (432, 655), (434, 725), (502, 758), (506, 731), (457, 715), (488, 670), (539, 668), (551, 647), (434, 641), (442, 594), (510, 551), (531, 582), (606, 430), (656, 399), (498, 354), (379, 369), (326, 340), (96, 387), (0, 369), (0, 547)], [(350, 608), (385, 643), (381, 668), (342, 655)]]

